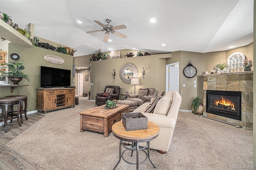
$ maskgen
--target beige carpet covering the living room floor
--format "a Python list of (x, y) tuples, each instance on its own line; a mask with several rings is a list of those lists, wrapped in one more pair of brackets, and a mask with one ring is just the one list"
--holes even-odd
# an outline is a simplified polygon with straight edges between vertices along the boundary
[[(118, 161), (119, 140), (112, 133), (105, 138), (97, 132), (80, 132), (78, 112), (95, 106), (87, 97), (80, 97), (75, 108), (46, 113), (7, 146), (46, 170), (111, 170)], [(233, 165), (250, 166), (252, 132), (180, 112), (169, 151), (160, 154), (150, 150), (150, 154), (158, 170), (226, 170)], [(116, 169), (131, 170), (136, 165), (121, 160)], [(140, 164), (140, 169), (154, 167), (147, 160)]]

